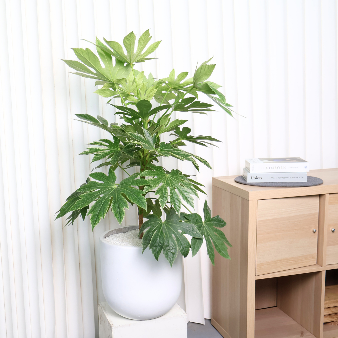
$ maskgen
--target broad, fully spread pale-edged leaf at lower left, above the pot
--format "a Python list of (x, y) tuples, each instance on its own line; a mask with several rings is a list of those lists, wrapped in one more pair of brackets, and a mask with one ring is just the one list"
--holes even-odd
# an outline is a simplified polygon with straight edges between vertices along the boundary
[(80, 187), (78, 191), (83, 194), (73, 204), (72, 210), (81, 209), (95, 201), (88, 212), (88, 214), (91, 214), (90, 221), (92, 228), (99, 223), (101, 218), (104, 218), (110, 205), (112, 206), (114, 216), (121, 224), (125, 215), (124, 209), (129, 209), (125, 197), (139, 207), (143, 209), (147, 208), (146, 199), (142, 196), (143, 191), (132, 187), (148, 184), (148, 181), (143, 178), (136, 179), (138, 174), (123, 179), (120, 184), (115, 183), (116, 175), (113, 167), (110, 167), (108, 176), (102, 172), (95, 172), (89, 176), (102, 183), (90, 181), (88, 184)]

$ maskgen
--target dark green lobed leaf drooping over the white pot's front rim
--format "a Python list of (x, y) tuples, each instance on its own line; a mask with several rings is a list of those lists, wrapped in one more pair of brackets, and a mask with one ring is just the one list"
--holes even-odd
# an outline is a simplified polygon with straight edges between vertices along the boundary
[(140, 228), (140, 234), (148, 229), (144, 232), (142, 239), (143, 251), (149, 246), (156, 260), (159, 260), (163, 249), (163, 254), (170, 266), (174, 263), (178, 250), (184, 257), (189, 254), (190, 243), (184, 234), (203, 241), (196, 226), (188, 222), (180, 222), (174, 209), (168, 212), (164, 222), (153, 214), (145, 218), (148, 218), (148, 221), (144, 222)]

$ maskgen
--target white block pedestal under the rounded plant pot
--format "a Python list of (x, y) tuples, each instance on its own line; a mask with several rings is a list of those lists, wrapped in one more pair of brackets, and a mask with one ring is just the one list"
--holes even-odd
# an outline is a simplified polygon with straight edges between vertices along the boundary
[(105, 301), (99, 305), (100, 338), (187, 338), (187, 323), (187, 314), (177, 304), (150, 320), (124, 318)]

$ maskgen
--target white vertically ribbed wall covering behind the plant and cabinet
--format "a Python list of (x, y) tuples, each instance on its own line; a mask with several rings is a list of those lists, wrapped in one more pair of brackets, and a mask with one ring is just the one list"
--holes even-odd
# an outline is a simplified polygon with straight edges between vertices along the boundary
[[(60, 59), (75, 59), (71, 47), (150, 28), (163, 42), (140, 69), (158, 78), (214, 55), (211, 80), (246, 118), (188, 116), (195, 135), (222, 141), (190, 147), (214, 171), (163, 160), (196, 174), (211, 202), (211, 177), (239, 174), (247, 157), (338, 166), (337, 9), (335, 0), (1, 0), (0, 337), (98, 337), (98, 239), (118, 223), (110, 214), (94, 232), (82, 220), (63, 228), (54, 213), (94, 167), (77, 154), (104, 136), (72, 117), (115, 117), (93, 81), (68, 73)], [(203, 196), (196, 202), (201, 212)], [(131, 208), (123, 225), (136, 216)], [(184, 268), (181, 304), (203, 322), (211, 315), (206, 248)]]

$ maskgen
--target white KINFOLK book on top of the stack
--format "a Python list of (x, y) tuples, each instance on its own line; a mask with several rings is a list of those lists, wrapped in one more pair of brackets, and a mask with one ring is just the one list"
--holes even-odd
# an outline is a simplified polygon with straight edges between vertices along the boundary
[(245, 167), (250, 173), (304, 172), (310, 170), (309, 162), (300, 157), (245, 159)]

